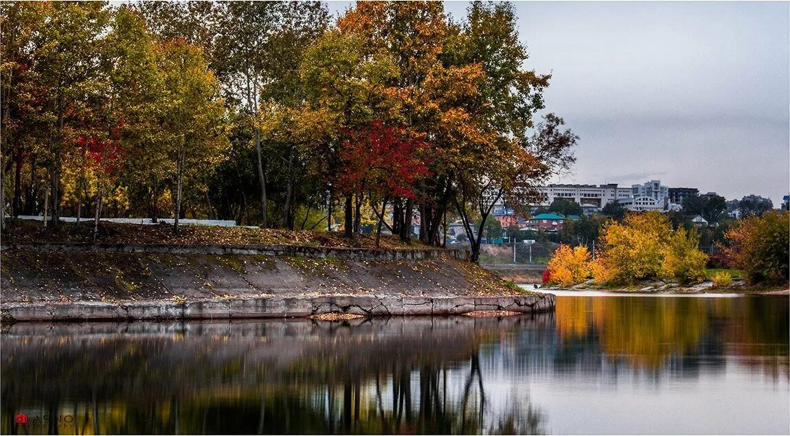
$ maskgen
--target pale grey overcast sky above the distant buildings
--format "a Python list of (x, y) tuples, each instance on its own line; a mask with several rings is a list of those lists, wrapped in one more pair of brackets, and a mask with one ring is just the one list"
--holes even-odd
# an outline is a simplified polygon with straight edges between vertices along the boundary
[[(329, 2), (334, 16), (352, 2)], [(468, 2), (445, 2), (456, 20)], [(525, 67), (581, 137), (570, 176), (715, 191), (790, 190), (790, 3), (514, 2)]]

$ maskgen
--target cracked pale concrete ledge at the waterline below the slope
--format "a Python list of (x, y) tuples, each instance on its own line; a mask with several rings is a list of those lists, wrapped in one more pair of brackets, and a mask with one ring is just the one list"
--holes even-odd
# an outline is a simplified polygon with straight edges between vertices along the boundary
[(474, 310), (534, 313), (553, 310), (554, 295), (499, 297), (400, 297), (327, 295), (256, 299), (204, 299), (186, 303), (6, 303), (3, 321), (173, 320), (231, 318), (303, 318), (316, 314), (364, 316), (448, 315)]

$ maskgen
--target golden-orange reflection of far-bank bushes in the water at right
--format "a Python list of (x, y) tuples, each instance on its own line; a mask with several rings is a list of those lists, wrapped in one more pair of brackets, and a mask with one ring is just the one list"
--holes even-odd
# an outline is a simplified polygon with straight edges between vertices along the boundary
[[(788, 374), (788, 299), (559, 297), (557, 333), (566, 352), (600, 347), (615, 363), (657, 372), (673, 362), (735, 355), (773, 377)], [(561, 353), (562, 354), (562, 353)], [(570, 362), (569, 357), (565, 357)]]

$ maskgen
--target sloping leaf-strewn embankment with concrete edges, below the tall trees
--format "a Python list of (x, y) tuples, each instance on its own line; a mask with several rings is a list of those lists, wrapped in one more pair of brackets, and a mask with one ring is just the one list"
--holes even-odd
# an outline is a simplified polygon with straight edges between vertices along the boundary
[(553, 295), (529, 295), (466, 259), (426, 248), (9, 243), (0, 308), (5, 321), (553, 309)]

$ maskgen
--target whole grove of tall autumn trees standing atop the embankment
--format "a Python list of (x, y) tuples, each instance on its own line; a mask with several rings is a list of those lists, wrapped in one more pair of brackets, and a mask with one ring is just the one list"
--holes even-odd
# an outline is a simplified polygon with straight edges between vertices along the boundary
[(574, 160), (562, 118), (533, 119), (550, 77), (523, 68), (507, 3), (460, 22), (441, 2), (359, 2), (337, 22), (320, 2), (0, 8), (13, 216), (342, 215), (352, 237), (367, 210), (408, 240), (419, 213), (439, 244), (448, 212), (471, 236)]

